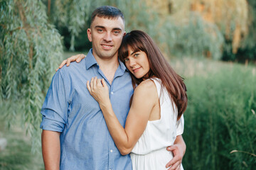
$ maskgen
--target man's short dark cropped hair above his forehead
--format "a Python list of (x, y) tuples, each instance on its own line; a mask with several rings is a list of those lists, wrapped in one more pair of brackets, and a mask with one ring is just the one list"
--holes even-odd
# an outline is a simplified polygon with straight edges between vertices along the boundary
[(95, 17), (104, 17), (104, 18), (117, 18), (121, 17), (124, 21), (124, 15), (122, 11), (119, 10), (119, 8), (116, 8), (114, 6), (100, 6), (95, 9), (95, 11), (92, 12), (91, 16), (91, 25), (92, 22), (95, 20)]

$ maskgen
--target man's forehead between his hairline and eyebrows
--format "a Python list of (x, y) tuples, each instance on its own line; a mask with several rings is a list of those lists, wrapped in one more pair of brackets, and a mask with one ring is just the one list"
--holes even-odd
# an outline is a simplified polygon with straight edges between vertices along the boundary
[(96, 16), (92, 22), (92, 26), (102, 26), (102, 27), (113, 27), (113, 28), (122, 28), (124, 29), (124, 21), (120, 16), (110, 18), (110, 17), (99, 17)]

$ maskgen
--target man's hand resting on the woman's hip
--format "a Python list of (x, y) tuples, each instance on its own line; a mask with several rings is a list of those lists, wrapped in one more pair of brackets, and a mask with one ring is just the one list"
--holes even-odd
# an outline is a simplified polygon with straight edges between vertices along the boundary
[(181, 135), (176, 137), (174, 145), (167, 147), (167, 150), (173, 152), (174, 158), (171, 159), (168, 164), (166, 164), (166, 168), (170, 167), (168, 170), (180, 170), (181, 169), (181, 162), (183, 156), (186, 152), (186, 144)]

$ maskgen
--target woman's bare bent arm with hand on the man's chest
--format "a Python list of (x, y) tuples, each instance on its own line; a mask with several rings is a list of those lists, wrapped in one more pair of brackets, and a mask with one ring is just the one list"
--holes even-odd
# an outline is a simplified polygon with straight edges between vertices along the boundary
[(87, 89), (95, 100), (99, 102), (107, 128), (119, 152), (123, 155), (129, 154), (139, 140), (139, 137), (142, 136), (152, 108), (159, 101), (154, 82), (143, 81), (135, 89), (125, 128), (122, 127), (117, 116), (114, 114), (105, 81), (94, 78), (90, 81), (90, 85), (87, 82)]

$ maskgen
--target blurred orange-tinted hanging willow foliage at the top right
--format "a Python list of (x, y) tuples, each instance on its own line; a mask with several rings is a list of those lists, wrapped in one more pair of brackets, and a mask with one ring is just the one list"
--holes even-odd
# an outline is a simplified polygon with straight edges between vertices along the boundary
[(246, 0), (171, 1), (178, 11), (176, 17), (188, 18), (191, 11), (199, 13), (203, 21), (218, 26), (225, 38), (223, 50), (231, 55), (238, 52), (242, 38), (248, 33), (249, 7)]

